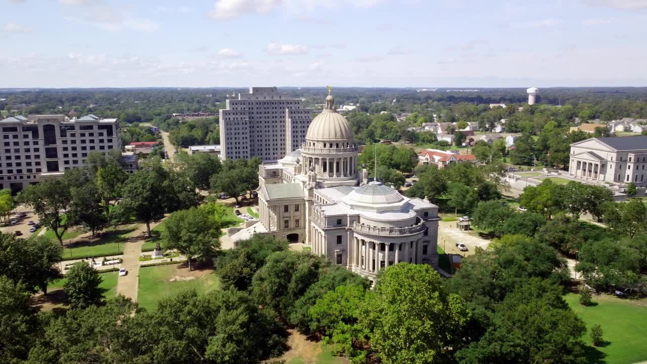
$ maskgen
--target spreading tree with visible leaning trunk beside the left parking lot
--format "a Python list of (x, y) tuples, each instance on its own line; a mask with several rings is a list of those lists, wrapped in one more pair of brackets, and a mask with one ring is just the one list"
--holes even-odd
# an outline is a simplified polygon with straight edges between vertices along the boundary
[(63, 211), (72, 203), (71, 186), (62, 178), (46, 178), (36, 185), (28, 185), (18, 193), (17, 200), (38, 214), (40, 223), (54, 232), (63, 246), (63, 234), (72, 225), (72, 219)]

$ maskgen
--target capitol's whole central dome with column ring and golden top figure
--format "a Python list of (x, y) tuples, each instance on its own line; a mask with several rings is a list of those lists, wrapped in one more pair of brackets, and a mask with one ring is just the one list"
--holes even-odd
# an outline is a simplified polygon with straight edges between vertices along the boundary
[(334, 109), (334, 98), (328, 86), (328, 96), (322, 112), (311, 122), (302, 144), (303, 174), (311, 167), (322, 187), (354, 186), (357, 184), (357, 152), (353, 130), (346, 118)]

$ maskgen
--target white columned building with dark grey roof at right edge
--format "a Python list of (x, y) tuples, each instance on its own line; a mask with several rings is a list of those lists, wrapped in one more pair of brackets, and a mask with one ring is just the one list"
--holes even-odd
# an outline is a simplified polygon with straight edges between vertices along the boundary
[(570, 157), (572, 177), (647, 186), (647, 136), (586, 139), (571, 144)]

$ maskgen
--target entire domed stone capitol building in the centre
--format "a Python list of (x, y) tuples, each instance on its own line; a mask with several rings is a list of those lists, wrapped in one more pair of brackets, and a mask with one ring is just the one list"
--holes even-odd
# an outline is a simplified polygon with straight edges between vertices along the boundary
[(398, 262), (437, 267), (438, 207), (406, 198), (357, 168), (348, 121), (325, 100), (300, 149), (259, 166), (259, 221), (232, 235), (270, 234), (311, 244), (312, 252), (375, 282)]

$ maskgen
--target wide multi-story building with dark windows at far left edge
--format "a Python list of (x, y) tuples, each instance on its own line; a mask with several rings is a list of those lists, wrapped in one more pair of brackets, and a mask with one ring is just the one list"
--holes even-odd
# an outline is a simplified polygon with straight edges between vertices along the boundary
[(92, 114), (8, 117), (0, 120), (0, 134), (0, 188), (13, 192), (82, 166), (91, 152), (121, 150), (118, 121)]

